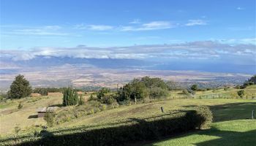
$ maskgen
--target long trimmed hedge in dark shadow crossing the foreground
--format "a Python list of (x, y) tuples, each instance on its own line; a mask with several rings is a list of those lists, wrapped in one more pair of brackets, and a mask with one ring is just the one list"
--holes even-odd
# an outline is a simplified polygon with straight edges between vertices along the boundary
[[(202, 110), (202, 109), (201, 109)], [(202, 110), (203, 111), (203, 110)], [(154, 118), (130, 118), (129, 122), (100, 128), (74, 128), (70, 132), (41, 131), (39, 137), (26, 138), (16, 145), (125, 145), (132, 142), (160, 139), (161, 137), (192, 131), (201, 125), (202, 114), (197, 110), (177, 115), (159, 115)], [(208, 112), (207, 112), (208, 114)], [(67, 129), (66, 129), (67, 130)], [(21, 140), (21, 139), (18, 139)], [(5, 143), (11, 145), (8, 140)], [(12, 143), (13, 145), (13, 143)]]

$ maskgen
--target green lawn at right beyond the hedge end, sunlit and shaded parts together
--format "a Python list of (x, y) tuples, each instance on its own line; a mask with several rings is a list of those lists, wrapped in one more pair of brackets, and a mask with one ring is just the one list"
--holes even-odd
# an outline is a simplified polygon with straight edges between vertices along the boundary
[(150, 145), (255, 145), (256, 120), (250, 120), (255, 102), (211, 105), (214, 114), (212, 128), (153, 142)]

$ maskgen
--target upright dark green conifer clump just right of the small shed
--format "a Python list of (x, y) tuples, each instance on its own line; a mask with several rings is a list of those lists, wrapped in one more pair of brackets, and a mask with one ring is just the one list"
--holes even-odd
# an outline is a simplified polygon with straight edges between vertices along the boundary
[(67, 88), (63, 94), (63, 105), (75, 105), (78, 104), (78, 93), (72, 88)]

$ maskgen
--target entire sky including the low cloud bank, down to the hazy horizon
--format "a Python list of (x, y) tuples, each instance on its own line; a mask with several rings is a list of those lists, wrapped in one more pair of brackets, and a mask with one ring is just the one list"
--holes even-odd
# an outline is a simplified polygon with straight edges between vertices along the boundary
[(0, 4), (1, 57), (12, 61), (115, 58), (153, 61), (151, 69), (178, 69), (182, 63), (183, 70), (256, 72), (255, 0)]

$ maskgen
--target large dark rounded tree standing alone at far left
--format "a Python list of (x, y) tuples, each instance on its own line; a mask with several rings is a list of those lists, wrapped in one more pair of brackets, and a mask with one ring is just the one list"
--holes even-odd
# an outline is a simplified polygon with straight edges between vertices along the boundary
[(29, 96), (32, 93), (32, 88), (29, 85), (29, 81), (24, 78), (23, 75), (18, 75), (10, 85), (9, 96), (12, 99), (20, 99)]

